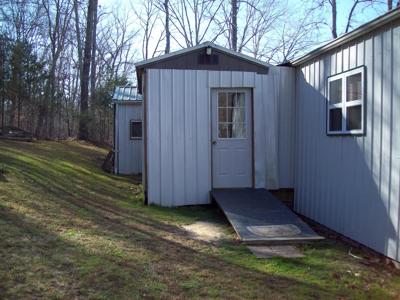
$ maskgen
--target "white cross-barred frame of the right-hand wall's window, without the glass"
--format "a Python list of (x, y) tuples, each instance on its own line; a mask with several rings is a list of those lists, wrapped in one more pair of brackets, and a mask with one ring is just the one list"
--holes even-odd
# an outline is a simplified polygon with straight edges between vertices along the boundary
[[(361, 99), (347, 101), (347, 78), (361, 74)], [(342, 79), (342, 102), (331, 104), (330, 102), (330, 83)], [(364, 135), (365, 134), (365, 66), (357, 67), (340, 74), (328, 77), (327, 87), (327, 109), (326, 109), (326, 133), (327, 135)], [(347, 108), (352, 106), (361, 106), (361, 129), (347, 130)], [(330, 110), (334, 108), (342, 109), (342, 130), (330, 130)]]

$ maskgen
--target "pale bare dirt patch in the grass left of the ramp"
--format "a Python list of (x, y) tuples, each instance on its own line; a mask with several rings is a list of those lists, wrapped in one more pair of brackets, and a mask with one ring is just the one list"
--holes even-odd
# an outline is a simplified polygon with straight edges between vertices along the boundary
[(205, 242), (216, 242), (227, 238), (223, 226), (212, 222), (198, 221), (190, 225), (184, 225), (182, 228), (191, 238)]

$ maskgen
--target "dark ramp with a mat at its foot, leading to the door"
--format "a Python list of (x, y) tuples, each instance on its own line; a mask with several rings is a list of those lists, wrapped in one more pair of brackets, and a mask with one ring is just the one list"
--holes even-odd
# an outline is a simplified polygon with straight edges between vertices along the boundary
[(323, 239), (265, 189), (216, 189), (211, 194), (246, 244), (288, 244)]

